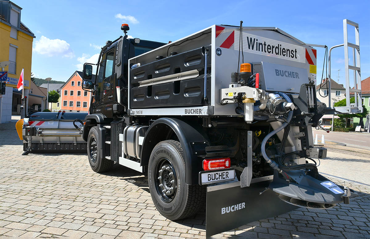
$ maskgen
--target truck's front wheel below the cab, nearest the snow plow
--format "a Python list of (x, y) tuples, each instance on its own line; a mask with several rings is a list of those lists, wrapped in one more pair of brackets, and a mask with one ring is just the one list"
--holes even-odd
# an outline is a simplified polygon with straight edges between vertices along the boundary
[(100, 144), (102, 144), (102, 142), (99, 142), (98, 127), (94, 126), (90, 129), (87, 138), (87, 156), (91, 169), (97, 173), (108, 171), (114, 164), (113, 161), (100, 155), (98, 150)]

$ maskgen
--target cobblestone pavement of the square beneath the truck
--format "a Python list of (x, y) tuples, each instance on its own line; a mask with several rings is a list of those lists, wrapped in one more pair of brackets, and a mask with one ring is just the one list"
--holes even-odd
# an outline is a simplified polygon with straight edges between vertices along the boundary
[[(2, 237), (205, 238), (205, 212), (176, 222), (164, 218), (147, 176), (120, 165), (96, 174), (84, 154), (21, 156), (14, 124), (0, 126)], [(370, 187), (346, 185), (361, 192), (349, 205), (298, 209), (213, 238), (370, 238)]]

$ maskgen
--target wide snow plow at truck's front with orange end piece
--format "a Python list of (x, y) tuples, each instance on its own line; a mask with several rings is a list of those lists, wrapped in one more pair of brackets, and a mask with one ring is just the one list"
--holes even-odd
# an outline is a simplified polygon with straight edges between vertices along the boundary
[(16, 123), (23, 154), (48, 152), (86, 152), (80, 132), (86, 113), (31, 112)]

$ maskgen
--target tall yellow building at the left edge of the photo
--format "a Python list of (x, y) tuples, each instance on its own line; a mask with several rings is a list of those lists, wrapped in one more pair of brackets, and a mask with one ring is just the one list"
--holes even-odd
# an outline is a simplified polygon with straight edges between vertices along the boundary
[(24, 68), (24, 95), (27, 98), (30, 89), (32, 43), (35, 35), (21, 22), (21, 10), (21, 7), (9, 0), (0, 1), (0, 62), (10, 61), (4, 69), (8, 71), (8, 78), (6, 94), (0, 103), (0, 122), (9, 122), (12, 108), (21, 104), (19, 94), (21, 91), (17, 92), (17, 83), (22, 68)]

